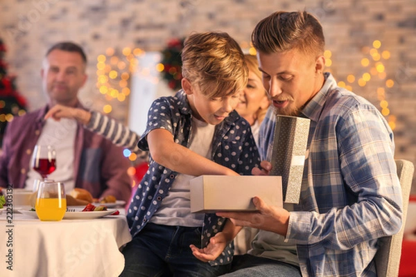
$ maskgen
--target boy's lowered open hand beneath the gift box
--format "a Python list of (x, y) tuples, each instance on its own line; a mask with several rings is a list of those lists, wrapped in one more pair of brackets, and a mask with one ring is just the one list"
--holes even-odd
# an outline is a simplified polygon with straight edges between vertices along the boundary
[(227, 242), (224, 233), (220, 232), (209, 240), (209, 244), (204, 249), (199, 249), (193, 244), (189, 245), (189, 247), (191, 247), (193, 256), (198, 258), (198, 260), (209, 262), (218, 258), (228, 244), (229, 242)]

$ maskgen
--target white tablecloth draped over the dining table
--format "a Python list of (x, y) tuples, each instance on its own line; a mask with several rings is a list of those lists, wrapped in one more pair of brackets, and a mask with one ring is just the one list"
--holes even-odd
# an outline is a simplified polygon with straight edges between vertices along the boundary
[[(13, 214), (12, 227), (0, 215), (0, 276), (119, 276), (119, 248), (131, 240), (124, 215), (94, 220), (41, 222)], [(12, 247), (7, 245), (12, 229)], [(12, 271), (8, 255), (12, 249)]]

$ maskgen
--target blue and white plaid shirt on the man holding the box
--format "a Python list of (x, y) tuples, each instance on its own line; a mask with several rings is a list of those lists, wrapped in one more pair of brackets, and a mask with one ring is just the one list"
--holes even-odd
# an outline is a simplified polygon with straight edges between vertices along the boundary
[[(376, 276), (378, 239), (402, 224), (392, 130), (370, 102), (325, 79), (300, 115), (311, 119), (309, 156), (285, 241), (302, 276)], [(274, 127), (269, 109), (259, 143), (269, 161)]]

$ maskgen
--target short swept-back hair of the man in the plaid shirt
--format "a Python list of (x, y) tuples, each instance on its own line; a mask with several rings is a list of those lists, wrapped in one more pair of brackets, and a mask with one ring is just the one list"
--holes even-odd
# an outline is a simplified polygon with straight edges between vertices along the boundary
[(325, 39), (320, 22), (308, 12), (274, 12), (254, 28), (252, 43), (261, 53), (281, 53), (295, 48), (318, 57), (324, 53)]

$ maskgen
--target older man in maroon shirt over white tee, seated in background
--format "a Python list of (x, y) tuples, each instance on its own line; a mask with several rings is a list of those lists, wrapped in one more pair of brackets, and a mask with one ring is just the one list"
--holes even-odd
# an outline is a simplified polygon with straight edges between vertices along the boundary
[(40, 179), (31, 168), (33, 148), (36, 144), (53, 145), (57, 152), (56, 170), (49, 177), (64, 182), (67, 192), (85, 188), (96, 198), (114, 195), (128, 201), (130, 163), (121, 148), (76, 120), (44, 120), (54, 105), (83, 107), (78, 91), (87, 80), (86, 66), (87, 57), (77, 44), (60, 42), (49, 48), (41, 70), (42, 87), (49, 102), (8, 125), (0, 157), (0, 186), (31, 190), (35, 180)]

